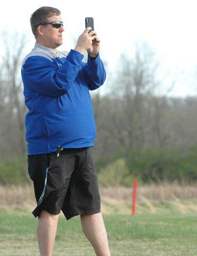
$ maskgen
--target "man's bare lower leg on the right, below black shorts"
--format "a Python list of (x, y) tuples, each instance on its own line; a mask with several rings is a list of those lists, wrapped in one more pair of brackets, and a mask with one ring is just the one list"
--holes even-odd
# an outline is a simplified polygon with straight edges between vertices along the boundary
[(102, 214), (81, 215), (81, 226), (97, 256), (110, 256)]

